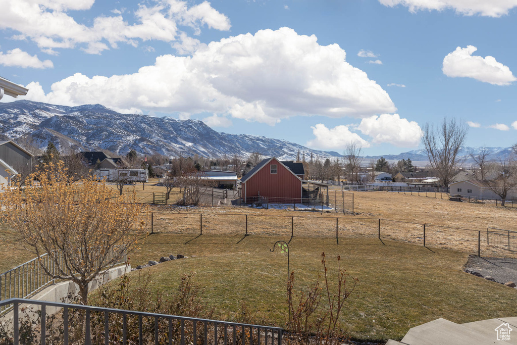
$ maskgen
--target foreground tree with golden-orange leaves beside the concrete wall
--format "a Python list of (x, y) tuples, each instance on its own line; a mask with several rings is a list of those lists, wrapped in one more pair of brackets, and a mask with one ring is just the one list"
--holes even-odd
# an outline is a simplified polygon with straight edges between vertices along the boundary
[[(4, 219), (20, 234), (24, 247), (38, 257), (54, 279), (79, 286), (87, 304), (88, 284), (116, 263), (145, 234), (135, 196), (112, 199), (111, 189), (92, 179), (74, 181), (63, 162), (29, 176), (26, 187), (0, 193)], [(50, 172), (50, 174), (49, 174)]]

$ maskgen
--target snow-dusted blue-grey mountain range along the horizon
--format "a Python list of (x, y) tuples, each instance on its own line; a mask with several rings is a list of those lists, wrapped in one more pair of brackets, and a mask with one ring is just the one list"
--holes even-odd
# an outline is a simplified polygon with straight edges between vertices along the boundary
[[(69, 147), (82, 151), (103, 148), (119, 155), (134, 149), (141, 154), (159, 153), (170, 157), (194, 154), (204, 157), (221, 157), (225, 154), (248, 156), (256, 152), (291, 160), (296, 159), (299, 151), (307, 159), (311, 154), (342, 157), (337, 152), (318, 151), (285, 140), (217, 132), (198, 120), (120, 114), (101, 104), (67, 107), (27, 100), (0, 103), (0, 133), (5, 139), (28, 136), (40, 149), (53, 142), (65, 152)], [(461, 155), (476, 154), (479, 149), (464, 147)], [(508, 156), (511, 151), (510, 147), (489, 149), (490, 159)], [(364, 158), (376, 160), (380, 157)], [(423, 162), (420, 165), (428, 160), (421, 149), (383, 157), (390, 161), (410, 158), (415, 162)]]

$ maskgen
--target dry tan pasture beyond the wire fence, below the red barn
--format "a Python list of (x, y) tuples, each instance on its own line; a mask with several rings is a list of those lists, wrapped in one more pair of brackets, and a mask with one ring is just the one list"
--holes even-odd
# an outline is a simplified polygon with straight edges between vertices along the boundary
[(244, 235), (247, 218), (248, 234), (290, 238), (293, 231), (295, 237), (336, 238), (337, 225), (338, 237), (345, 241), (347, 237), (377, 237), (381, 218), (381, 239), (423, 245), (423, 224), (427, 224), (427, 247), (477, 254), (478, 231), (481, 231), (482, 256), (514, 256), (500, 248), (503, 238), (491, 235), (490, 241), (496, 244), (497, 240), (499, 247), (487, 245), (486, 229), (517, 231), (517, 209), (392, 192), (359, 192), (354, 194), (354, 199), (355, 215), (341, 211), (324, 211), (323, 214), (293, 211), (292, 208), (155, 206), (152, 208), (153, 230), (196, 235), (201, 231), (202, 221), (204, 234)]

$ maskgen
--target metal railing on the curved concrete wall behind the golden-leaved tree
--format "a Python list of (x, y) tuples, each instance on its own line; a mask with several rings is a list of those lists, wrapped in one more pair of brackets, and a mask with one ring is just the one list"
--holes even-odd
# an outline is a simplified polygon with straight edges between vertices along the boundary
[[(105, 262), (111, 262), (119, 255), (120, 249), (118, 246), (110, 248)], [(0, 274), (0, 301), (8, 298), (26, 298), (53, 284), (56, 279), (48, 275), (43, 266), (47, 267), (52, 275), (57, 275), (56, 261), (59, 266), (64, 267), (64, 260), (62, 252), (57, 254), (55, 260), (44, 253), (38, 258), (29, 260)], [(123, 264), (126, 261), (127, 252), (124, 250), (120, 258), (110, 266)], [(0, 306), (0, 315), (4, 312), (6, 312), (6, 309)]]

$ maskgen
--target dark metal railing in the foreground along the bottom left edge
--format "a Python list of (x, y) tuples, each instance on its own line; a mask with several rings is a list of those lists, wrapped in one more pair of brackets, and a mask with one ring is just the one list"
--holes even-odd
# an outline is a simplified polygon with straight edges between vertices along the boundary
[[(245, 323), (235, 323), (208, 319), (188, 318), (151, 312), (121, 310), (67, 304), (58, 302), (34, 301), (32, 299), (11, 298), (0, 301), (0, 307), (13, 306), (12, 342), (20, 343), (20, 310), (21, 306), (36, 306), (40, 311), (39, 324), (40, 343), (45, 345), (47, 340), (47, 309), (62, 308), (62, 337), (63, 344), (73, 342), (77, 335), (77, 326), (84, 329), (79, 336), (84, 344), (109, 344), (113, 338), (126, 345), (131, 341), (139, 344), (168, 343), (168, 344), (200, 344), (204, 345), (282, 345), (283, 329), (279, 327), (260, 326)], [(26, 309), (25, 309), (26, 310)], [(72, 317), (74, 312), (81, 312), (81, 317)], [(96, 322), (93, 322), (95, 319)], [(150, 322), (149, 322), (150, 319)], [(120, 327), (113, 327), (111, 321), (116, 321)], [(145, 320), (145, 321), (144, 321)], [(100, 321), (100, 322), (99, 322)], [(134, 321), (136, 323), (134, 323)], [(144, 322), (146, 327), (144, 329)], [(138, 324), (138, 326), (136, 326)], [(148, 325), (151, 325), (148, 327)], [(5, 325), (4, 325), (5, 326)], [(131, 328), (134, 326), (133, 328)], [(75, 332), (72, 332), (75, 331)], [(26, 332), (26, 330), (24, 330)]]

